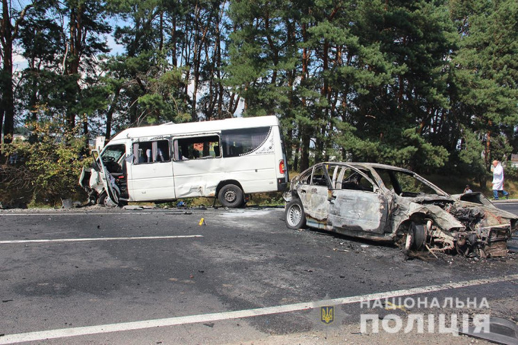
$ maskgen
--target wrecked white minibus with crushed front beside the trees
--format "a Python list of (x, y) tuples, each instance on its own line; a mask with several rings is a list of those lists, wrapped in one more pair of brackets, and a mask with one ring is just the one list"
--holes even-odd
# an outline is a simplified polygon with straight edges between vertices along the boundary
[(213, 197), (241, 207), (289, 182), (275, 116), (129, 128), (94, 157), (79, 182), (100, 204)]

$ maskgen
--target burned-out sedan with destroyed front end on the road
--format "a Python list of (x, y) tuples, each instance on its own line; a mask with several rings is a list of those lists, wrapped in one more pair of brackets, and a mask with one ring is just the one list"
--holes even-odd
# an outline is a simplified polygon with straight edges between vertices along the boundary
[(318, 163), (291, 181), (285, 220), (414, 250), (499, 257), (518, 217), (481, 193), (449, 195), (407, 169), (377, 163)]

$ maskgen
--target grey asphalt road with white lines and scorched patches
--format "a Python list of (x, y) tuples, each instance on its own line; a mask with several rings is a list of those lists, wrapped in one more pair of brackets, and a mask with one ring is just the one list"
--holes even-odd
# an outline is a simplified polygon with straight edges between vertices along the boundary
[[(392, 246), (289, 230), (283, 218), (278, 208), (1, 211), (0, 344), (240, 344), (338, 334), (366, 313), (518, 321), (516, 236), (505, 259), (405, 260)], [(357, 303), (369, 294), (421, 305)], [(321, 305), (335, 306), (337, 322), (321, 322)]]

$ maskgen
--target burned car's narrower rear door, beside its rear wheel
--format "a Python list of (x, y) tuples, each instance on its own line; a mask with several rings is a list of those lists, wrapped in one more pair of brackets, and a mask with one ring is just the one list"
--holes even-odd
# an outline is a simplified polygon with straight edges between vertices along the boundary
[(331, 181), (323, 164), (315, 166), (313, 170), (300, 177), (297, 192), (309, 227), (326, 228), (330, 185)]

